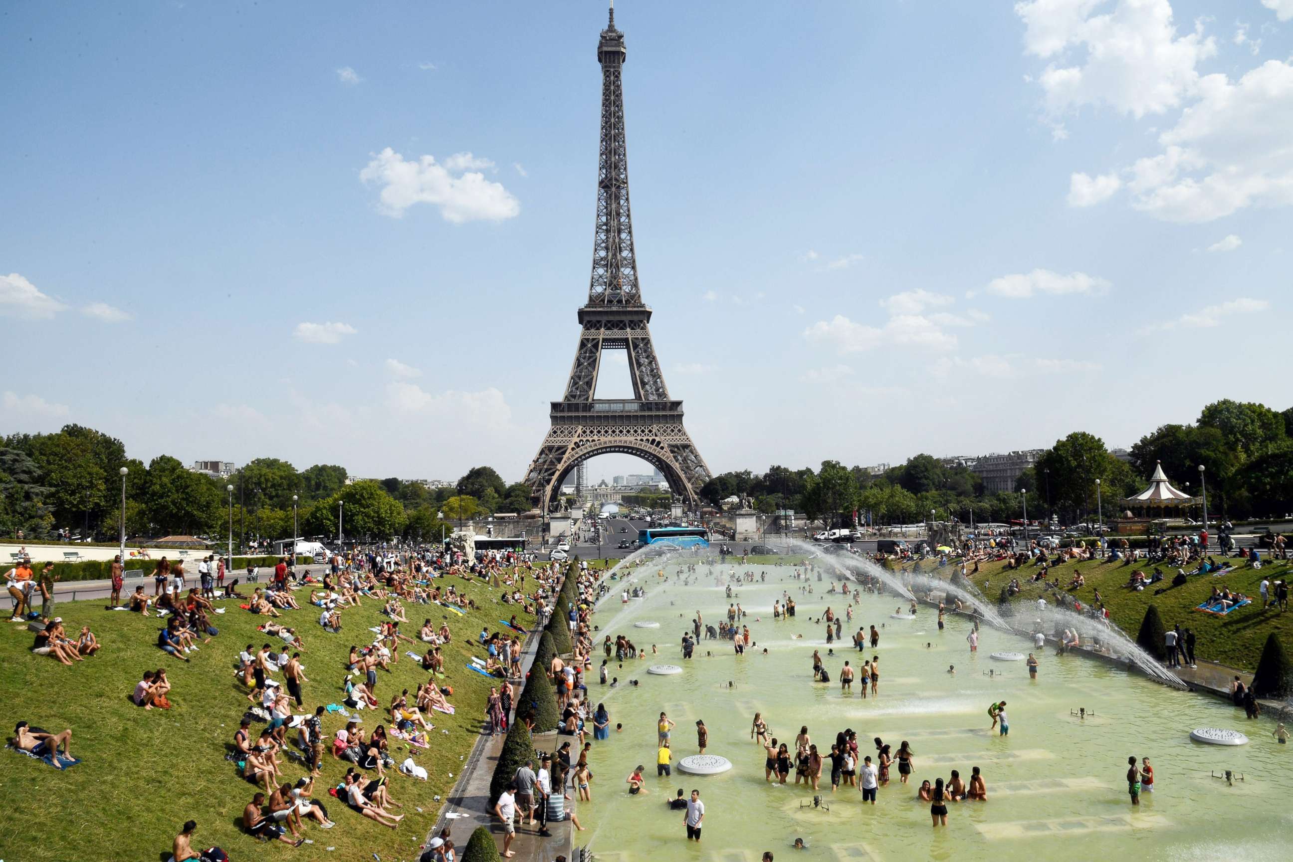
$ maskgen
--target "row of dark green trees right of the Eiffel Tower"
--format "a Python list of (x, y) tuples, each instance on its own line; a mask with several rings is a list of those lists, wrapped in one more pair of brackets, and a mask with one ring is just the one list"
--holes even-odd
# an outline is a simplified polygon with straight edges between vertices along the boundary
[[(710, 479), (701, 496), (723, 508), (732, 496), (749, 496), (763, 513), (793, 509), (811, 520), (850, 523), (912, 523), (937, 520), (1007, 522), (1023, 517), (1067, 523), (1121, 513), (1122, 498), (1142, 491), (1156, 464), (1181, 490), (1208, 490), (1215, 517), (1283, 517), (1293, 512), (1293, 408), (1276, 412), (1259, 403), (1218, 401), (1192, 424), (1161, 425), (1116, 457), (1104, 441), (1073, 432), (1045, 450), (1036, 465), (1015, 481), (1014, 492), (984, 490), (967, 467), (915, 455), (905, 464), (871, 474), (862, 467), (826, 460), (816, 470), (773, 465), (765, 473), (737, 470)], [(1199, 467), (1204, 467), (1200, 478)], [(1102, 512), (1103, 510), (1103, 512)]]

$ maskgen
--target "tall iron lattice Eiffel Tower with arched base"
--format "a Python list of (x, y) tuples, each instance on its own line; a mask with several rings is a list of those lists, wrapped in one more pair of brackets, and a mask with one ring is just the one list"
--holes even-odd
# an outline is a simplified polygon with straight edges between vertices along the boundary
[[(693, 509), (698, 505), (701, 486), (710, 479), (710, 468), (683, 428), (683, 402), (671, 399), (665, 386), (646, 326), (650, 308), (643, 304), (637, 286), (621, 89), (625, 56), (625, 34), (615, 30), (612, 0), (610, 22), (597, 43), (601, 150), (588, 302), (579, 309), (582, 331), (565, 395), (552, 402), (552, 429), (525, 474), (543, 510), (555, 505), (561, 482), (572, 469), (606, 452), (635, 455), (658, 468), (670, 490)], [(606, 350), (628, 354), (632, 398), (593, 398)]]

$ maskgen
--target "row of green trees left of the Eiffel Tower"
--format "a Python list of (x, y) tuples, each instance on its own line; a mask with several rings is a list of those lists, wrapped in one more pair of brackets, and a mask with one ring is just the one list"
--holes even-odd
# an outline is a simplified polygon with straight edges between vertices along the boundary
[[(225, 539), (230, 529), (251, 539), (292, 535), (294, 507), (303, 536), (427, 539), (471, 518), (530, 509), (530, 489), (507, 485), (490, 467), (473, 467), (453, 487), (384, 478), (348, 482), (344, 467), (259, 457), (228, 478), (187, 469), (178, 459), (128, 457), (122, 441), (81, 425), (50, 434), (0, 438), (0, 535), (53, 539), (74, 535), (112, 541), (122, 518), (125, 474), (127, 536), (204, 535)], [(228, 487), (233, 486), (233, 491)], [(294, 498), (296, 498), (294, 500)], [(343, 514), (344, 513), (344, 514)]]

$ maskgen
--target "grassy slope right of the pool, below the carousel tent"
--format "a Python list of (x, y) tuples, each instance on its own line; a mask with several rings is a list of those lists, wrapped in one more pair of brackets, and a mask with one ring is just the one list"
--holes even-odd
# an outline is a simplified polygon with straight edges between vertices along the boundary
[[(1241, 565), (1240, 560), (1234, 560)], [(928, 562), (923, 569), (927, 570)], [(905, 566), (910, 569), (910, 563)], [(1140, 631), (1140, 620), (1144, 619), (1146, 609), (1153, 604), (1159, 606), (1165, 627), (1171, 628), (1181, 623), (1182, 628), (1192, 628), (1197, 640), (1195, 653), (1199, 658), (1210, 662), (1219, 662), (1243, 671), (1252, 671), (1257, 667), (1257, 660), (1262, 655), (1262, 646), (1266, 637), (1275, 632), (1287, 650), (1293, 650), (1293, 613), (1281, 614), (1276, 609), (1263, 610), (1258, 585), (1262, 578), (1271, 580), (1293, 576), (1293, 565), (1288, 562), (1265, 562), (1261, 569), (1236, 569), (1235, 571), (1214, 578), (1212, 575), (1191, 575), (1188, 583), (1175, 589), (1170, 588), (1174, 569), (1160, 566), (1165, 580), (1152, 587), (1146, 587), (1142, 592), (1126, 589), (1125, 584), (1135, 569), (1142, 569), (1152, 574), (1153, 567), (1143, 561), (1131, 566), (1124, 566), (1121, 561), (1103, 562), (1089, 561), (1080, 563), (1065, 563), (1050, 570), (1047, 579), (1059, 578), (1060, 585), (1067, 585), (1073, 579), (1074, 571), (1081, 571), (1086, 578), (1086, 585), (1076, 591), (1084, 605), (1094, 604), (1095, 591), (1100, 591), (1109, 616), (1133, 640)], [(953, 569), (946, 566), (936, 570), (939, 574), (950, 578)], [(1005, 563), (992, 562), (983, 565), (979, 574), (971, 575), (970, 580), (988, 597), (997, 601), (1001, 588), (1012, 576), (1018, 576), (1023, 585), (1023, 592), (1015, 601), (1036, 601), (1043, 594), (1042, 584), (1025, 580), (1036, 569), (1025, 567), (1019, 571), (1007, 571)], [(1212, 594), (1213, 587), (1230, 587), (1231, 591), (1241, 592), (1253, 597), (1253, 604), (1231, 611), (1226, 616), (1215, 616), (1195, 610), (1204, 600)], [(1168, 592), (1155, 596), (1153, 591), (1169, 587)]]

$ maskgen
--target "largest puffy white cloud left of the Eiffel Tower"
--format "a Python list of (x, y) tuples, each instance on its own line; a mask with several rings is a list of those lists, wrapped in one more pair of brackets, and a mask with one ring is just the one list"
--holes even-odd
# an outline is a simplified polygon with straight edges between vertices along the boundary
[(454, 176), (455, 171), (449, 167), (484, 163), (493, 165), (493, 162), (476, 159), (469, 152), (453, 155), (445, 164), (438, 164), (431, 155), (406, 162), (387, 147), (359, 172), (359, 178), (381, 186), (381, 211), (393, 218), (403, 216), (416, 203), (438, 207), (445, 221), (454, 224), (515, 218), (521, 212), (521, 204), (500, 184), (490, 182), (475, 171)]

